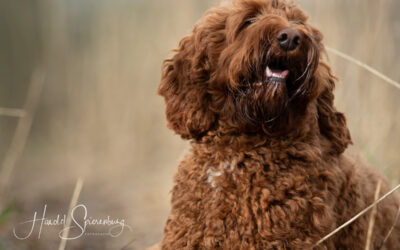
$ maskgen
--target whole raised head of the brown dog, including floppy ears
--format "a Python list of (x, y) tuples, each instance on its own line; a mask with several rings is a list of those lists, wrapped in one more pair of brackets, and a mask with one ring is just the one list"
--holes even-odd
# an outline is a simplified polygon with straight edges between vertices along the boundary
[[(321, 33), (294, 3), (237, 0), (209, 10), (164, 61), (159, 93), (184, 138), (208, 131), (282, 134), (325, 93)], [(333, 106), (332, 106), (333, 109)]]

